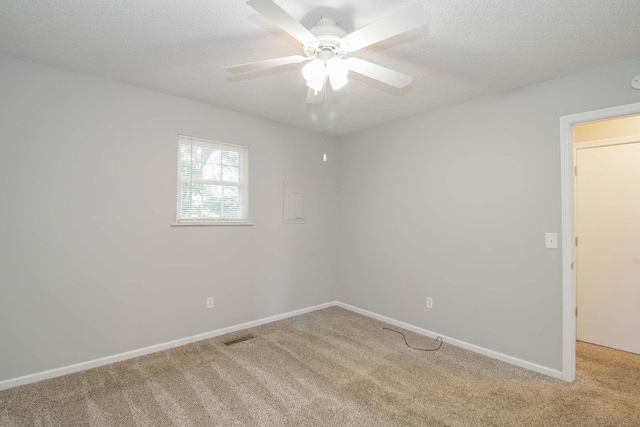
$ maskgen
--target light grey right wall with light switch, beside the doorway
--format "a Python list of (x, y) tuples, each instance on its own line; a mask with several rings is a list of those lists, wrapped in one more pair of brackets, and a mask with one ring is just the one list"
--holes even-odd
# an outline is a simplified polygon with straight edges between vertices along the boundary
[(560, 370), (561, 249), (544, 246), (561, 231), (559, 117), (638, 102), (638, 72), (629, 60), (341, 137), (338, 300)]

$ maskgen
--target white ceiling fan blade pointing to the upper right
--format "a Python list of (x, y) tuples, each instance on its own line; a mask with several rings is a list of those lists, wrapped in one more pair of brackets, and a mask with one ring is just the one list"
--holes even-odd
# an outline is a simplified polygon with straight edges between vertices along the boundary
[(413, 30), (429, 22), (429, 10), (420, 3), (412, 3), (387, 15), (364, 28), (342, 38), (342, 46), (348, 52), (378, 43), (405, 31)]

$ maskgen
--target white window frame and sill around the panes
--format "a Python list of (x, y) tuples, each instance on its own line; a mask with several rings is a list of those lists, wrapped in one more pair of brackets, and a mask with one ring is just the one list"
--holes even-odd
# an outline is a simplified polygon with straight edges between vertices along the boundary
[[(195, 178), (195, 183), (220, 185), (228, 187), (237, 187), (239, 193), (239, 210), (240, 216), (238, 218), (230, 217), (183, 217), (183, 185), (184, 183), (194, 184), (193, 174), (189, 179), (185, 179), (182, 175), (183, 160), (181, 157), (182, 147), (184, 145), (193, 147), (206, 147), (224, 151), (234, 151), (239, 154), (239, 166), (238, 166), (238, 182), (224, 181), (222, 177), (219, 180), (216, 179), (202, 179)], [(172, 225), (252, 225), (249, 222), (249, 147), (246, 145), (232, 144), (228, 142), (220, 142), (211, 139), (193, 137), (188, 135), (178, 135), (177, 144), (177, 193), (176, 193), (176, 222)], [(193, 151), (192, 151), (193, 152)], [(193, 164), (193, 159), (190, 160), (190, 165)], [(221, 165), (224, 167), (224, 165)], [(190, 167), (193, 171), (193, 167)]]

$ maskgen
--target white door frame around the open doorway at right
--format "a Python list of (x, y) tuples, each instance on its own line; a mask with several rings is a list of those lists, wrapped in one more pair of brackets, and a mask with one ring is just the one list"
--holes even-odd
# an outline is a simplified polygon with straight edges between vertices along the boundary
[(573, 125), (640, 114), (640, 103), (560, 117), (562, 242), (562, 379), (576, 378), (575, 177)]

